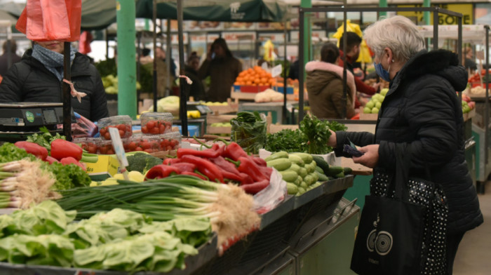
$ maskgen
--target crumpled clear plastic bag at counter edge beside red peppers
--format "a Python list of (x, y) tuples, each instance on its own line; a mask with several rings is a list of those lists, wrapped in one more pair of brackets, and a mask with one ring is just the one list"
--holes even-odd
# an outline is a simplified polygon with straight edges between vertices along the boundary
[(268, 187), (254, 195), (254, 210), (258, 214), (267, 213), (284, 201), (287, 194), (286, 182), (278, 170), (273, 168)]

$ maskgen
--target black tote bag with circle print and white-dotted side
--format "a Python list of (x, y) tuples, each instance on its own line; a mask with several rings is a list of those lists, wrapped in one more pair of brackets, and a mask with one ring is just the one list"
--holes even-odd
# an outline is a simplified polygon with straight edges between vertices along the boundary
[[(408, 177), (410, 145), (396, 147), (396, 175), (381, 170), (358, 225), (351, 269), (357, 274), (445, 274), (448, 206), (443, 189)], [(429, 174), (427, 172), (427, 174)]]

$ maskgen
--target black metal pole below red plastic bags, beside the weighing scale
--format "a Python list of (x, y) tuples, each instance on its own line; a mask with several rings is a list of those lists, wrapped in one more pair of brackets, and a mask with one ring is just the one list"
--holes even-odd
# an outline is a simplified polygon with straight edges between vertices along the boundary
[[(63, 78), (70, 81), (72, 79), (70, 69), (70, 42), (63, 43)], [(68, 141), (72, 141), (72, 96), (70, 95), (70, 86), (63, 82), (62, 85), (63, 100), (63, 135)]]

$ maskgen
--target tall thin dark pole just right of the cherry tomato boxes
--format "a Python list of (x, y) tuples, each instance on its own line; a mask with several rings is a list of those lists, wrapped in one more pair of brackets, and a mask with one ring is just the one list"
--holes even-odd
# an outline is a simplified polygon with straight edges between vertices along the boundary
[[(182, 0), (177, 0), (177, 33), (179, 36), (179, 75), (184, 75), (184, 41), (182, 39)], [(170, 60), (170, 57), (168, 58)], [(177, 76), (179, 77), (179, 76)], [(179, 117), (181, 119), (182, 135), (187, 136), (187, 96), (184, 86), (186, 80), (179, 77), (180, 105)]]

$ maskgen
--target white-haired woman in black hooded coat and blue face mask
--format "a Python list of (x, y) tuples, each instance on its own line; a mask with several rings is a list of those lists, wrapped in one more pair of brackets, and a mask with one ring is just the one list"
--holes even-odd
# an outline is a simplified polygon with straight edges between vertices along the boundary
[(466, 88), (466, 69), (455, 53), (426, 51), (418, 29), (403, 16), (375, 22), (365, 29), (365, 38), (375, 53), (377, 74), (390, 81), (375, 135), (337, 132), (329, 145), (336, 147), (338, 156), (349, 140), (361, 146), (365, 154), (353, 161), (374, 168), (375, 177), (381, 169), (394, 173), (396, 147), (411, 146), (410, 176), (441, 185), (447, 198), (445, 274), (452, 274), (462, 236), (483, 223), (465, 161), (462, 105), (455, 93)]

